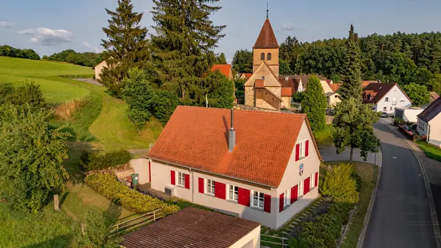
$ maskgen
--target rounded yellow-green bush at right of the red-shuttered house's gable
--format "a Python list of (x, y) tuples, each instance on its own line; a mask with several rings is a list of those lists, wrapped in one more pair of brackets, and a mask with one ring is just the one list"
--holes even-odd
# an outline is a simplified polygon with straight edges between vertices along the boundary
[(331, 196), (336, 201), (358, 203), (356, 180), (352, 178), (352, 172), (351, 164), (329, 166), (321, 184), (322, 195)]

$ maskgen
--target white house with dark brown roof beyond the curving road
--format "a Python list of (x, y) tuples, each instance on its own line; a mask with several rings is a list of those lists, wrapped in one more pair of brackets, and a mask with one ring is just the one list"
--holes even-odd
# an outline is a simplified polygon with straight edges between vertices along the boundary
[(369, 83), (362, 92), (363, 103), (373, 103), (373, 111), (393, 114), (396, 107), (411, 107), (412, 101), (396, 83)]

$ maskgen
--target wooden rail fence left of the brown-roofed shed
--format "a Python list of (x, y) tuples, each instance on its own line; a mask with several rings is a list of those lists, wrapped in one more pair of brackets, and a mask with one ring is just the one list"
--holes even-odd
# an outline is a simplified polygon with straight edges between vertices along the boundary
[(137, 216), (130, 220), (126, 220), (122, 223), (118, 223), (110, 227), (109, 234), (110, 236), (125, 234), (127, 231), (130, 231), (135, 228), (143, 227), (149, 223), (153, 223), (156, 220), (163, 217), (161, 209), (156, 209), (154, 211), (150, 211), (148, 213), (142, 214), (141, 216)]

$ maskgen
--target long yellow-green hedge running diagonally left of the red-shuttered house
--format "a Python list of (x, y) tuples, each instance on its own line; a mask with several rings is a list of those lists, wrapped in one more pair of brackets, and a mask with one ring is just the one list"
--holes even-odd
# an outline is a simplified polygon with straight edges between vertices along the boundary
[(112, 174), (90, 174), (85, 178), (85, 183), (96, 192), (99, 192), (99, 194), (113, 200), (114, 203), (122, 205), (127, 209), (132, 209), (137, 213), (161, 209), (163, 214), (167, 216), (179, 210), (179, 207), (176, 205), (164, 203), (162, 200), (130, 189), (116, 180)]

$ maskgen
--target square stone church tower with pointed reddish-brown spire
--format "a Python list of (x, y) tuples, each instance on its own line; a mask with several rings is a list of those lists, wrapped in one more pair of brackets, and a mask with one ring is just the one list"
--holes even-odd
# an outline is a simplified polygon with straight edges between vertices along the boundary
[(260, 30), (260, 34), (253, 47), (253, 73), (265, 61), (278, 78), (278, 49), (279, 46), (271, 23), (269, 23), (267, 10), (267, 19), (263, 23), (262, 30)]

